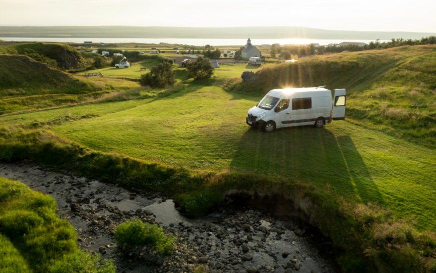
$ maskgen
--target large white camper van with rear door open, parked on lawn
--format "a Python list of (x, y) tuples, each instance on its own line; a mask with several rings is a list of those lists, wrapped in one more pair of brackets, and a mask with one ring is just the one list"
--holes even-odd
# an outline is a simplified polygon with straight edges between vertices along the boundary
[(323, 87), (273, 89), (248, 110), (246, 123), (264, 132), (300, 125), (321, 128), (345, 119), (345, 102), (345, 89), (335, 89), (333, 100)]

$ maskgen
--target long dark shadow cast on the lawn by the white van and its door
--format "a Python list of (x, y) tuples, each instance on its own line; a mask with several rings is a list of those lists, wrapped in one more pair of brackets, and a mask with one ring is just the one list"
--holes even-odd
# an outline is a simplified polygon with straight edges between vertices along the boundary
[(334, 136), (313, 126), (263, 133), (247, 129), (237, 144), (229, 168), (279, 179), (311, 183), (353, 196), (363, 203), (383, 204), (381, 194), (349, 136)]

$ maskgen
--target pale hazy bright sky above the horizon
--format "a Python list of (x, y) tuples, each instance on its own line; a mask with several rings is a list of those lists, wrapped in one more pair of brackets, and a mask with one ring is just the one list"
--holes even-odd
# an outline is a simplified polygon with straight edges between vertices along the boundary
[(436, 33), (436, 0), (0, 0), (0, 10), (0, 25), (280, 25)]

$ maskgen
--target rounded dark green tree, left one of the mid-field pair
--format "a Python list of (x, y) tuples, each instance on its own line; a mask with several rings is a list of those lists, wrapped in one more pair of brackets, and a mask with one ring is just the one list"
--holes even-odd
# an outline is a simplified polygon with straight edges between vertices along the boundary
[(169, 62), (161, 62), (151, 68), (150, 72), (141, 75), (139, 83), (144, 86), (163, 88), (174, 84), (174, 73)]

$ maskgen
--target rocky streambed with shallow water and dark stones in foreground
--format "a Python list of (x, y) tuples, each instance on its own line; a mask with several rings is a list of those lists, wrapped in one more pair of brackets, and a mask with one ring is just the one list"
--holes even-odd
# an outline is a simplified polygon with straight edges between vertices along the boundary
[[(188, 219), (162, 194), (132, 192), (30, 163), (0, 163), (0, 176), (52, 196), (58, 216), (76, 229), (80, 249), (113, 259), (119, 272), (191, 272), (199, 265), (216, 273), (335, 272), (303, 226), (252, 207), (229, 205)], [(173, 253), (160, 256), (146, 247), (117, 246), (115, 227), (133, 218), (176, 236)]]

